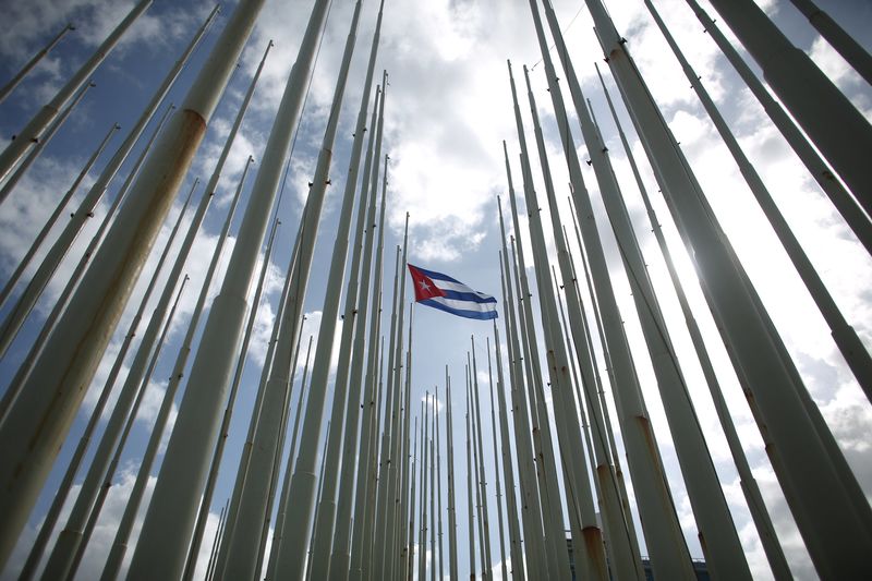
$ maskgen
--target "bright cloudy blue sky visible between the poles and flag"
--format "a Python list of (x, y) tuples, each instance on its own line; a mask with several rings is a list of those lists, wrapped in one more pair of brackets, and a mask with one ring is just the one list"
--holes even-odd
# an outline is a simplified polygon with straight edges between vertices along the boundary
[[(702, 26), (689, 8), (679, 0), (662, 0), (656, 4), (686, 57), (698, 74), (702, 76), (703, 83), (712, 93), (740, 144), (761, 173), (764, 183), (778, 203), (792, 231), (799, 238), (846, 318), (855, 326), (867, 347), (870, 348), (872, 344), (872, 325), (870, 325), (872, 295), (870, 295), (869, 289), (872, 288), (872, 268), (870, 268), (872, 261), (870, 261), (869, 254), (857, 242), (828, 199), (818, 190), (784, 138), (768, 122), (762, 108), (744, 88), (708, 35), (702, 31)], [(812, 60), (868, 119), (872, 118), (872, 88), (850, 70), (826, 41), (816, 35), (796, 9), (784, 0), (767, 0), (761, 4), (790, 40), (811, 56)], [(15, 93), (0, 105), (0, 135), (3, 138), (9, 138), (24, 126), (26, 121), (53, 96), (132, 5), (132, 0), (14, 0), (8, 3), (4, 8), (8, 17), (4, 17), (0, 24), (0, 57), (2, 57), (0, 58), (0, 82), (11, 77), (68, 22), (73, 22), (76, 29), (69, 33), (48, 58), (16, 88)], [(872, 47), (872, 7), (865, 2), (851, 0), (821, 2), (821, 5), (868, 50)], [(682, 371), (688, 385), (691, 386), (690, 391), (700, 424), (723, 483), (724, 493), (742, 546), (748, 555), (749, 565), (755, 578), (771, 578), (765, 556), (739, 487), (726, 440), (704, 386), (688, 332), (683, 327), (662, 255), (651, 233), (651, 225), (645, 216), (626, 155), (618, 141), (615, 125), (608, 114), (602, 89), (596, 80), (593, 63), (598, 61), (600, 69), (606, 76), (608, 88), (613, 96), (616, 95), (614, 82), (602, 62), (602, 51), (592, 32), (590, 14), (581, 0), (555, 1), (554, 7), (565, 32), (571, 58), (581, 77), (582, 88), (592, 100), (593, 110), (604, 133), (606, 145), (609, 147), (609, 155), (630, 210), (637, 237), (649, 264), (654, 287), (658, 292)], [(703, 7), (711, 15), (715, 15), (714, 10), (705, 2), (703, 2)], [(110, 143), (109, 149), (111, 150), (121, 143), (166, 71), (172, 66), (211, 8), (209, 2), (204, 1), (156, 0), (97, 69), (94, 74), (96, 86), (88, 92), (81, 105), (70, 116), (13, 194), (0, 206), (0, 273), (4, 277), (3, 280), (14, 270), (21, 256), (27, 251), (34, 237), (53, 209), (57, 199), (70, 186), (75, 174), (112, 123), (118, 122), (122, 129), (119, 132), (120, 135), (117, 135)], [(173, 85), (167, 98), (168, 101), (177, 104), (181, 101), (196, 70), (202, 65), (218, 32), (234, 8), (234, 4), (222, 8), (222, 13), (210, 33), (194, 52), (187, 68)], [(690, 160), (706, 199), (713, 207), (776, 328), (784, 338), (807, 387), (820, 406), (867, 495), (871, 494), (872, 449), (870, 449), (868, 433), (872, 427), (872, 412), (869, 401), (853, 380), (835, 343), (829, 338), (823, 318), (780, 249), (756, 202), (742, 181), (738, 168), (705, 116), (693, 90), (690, 89), (677, 61), (669, 52), (643, 3), (641, 0), (611, 1), (607, 2), (607, 8), (615, 20), (617, 29), (628, 39), (627, 46), (631, 55), (670, 130)], [(259, 368), (263, 364), (283, 274), (300, 221), (302, 203), (307, 192), (307, 183), (314, 173), (352, 9), (353, 2), (335, 0), (318, 52), (310, 94), (290, 158), (288, 177), (282, 186), (282, 197), (278, 208), (282, 225), (277, 234), (276, 251), (269, 264), (264, 301), (259, 305), (257, 314), (242, 388), (233, 414), (225, 461), (211, 507), (204, 552), (208, 552), (217, 526), (218, 513), (232, 491), (237, 461), (247, 431)], [(247, 156), (253, 155), (255, 160), (263, 156), (263, 148), (269, 135), (288, 72), (299, 49), (310, 10), (311, 2), (308, 1), (268, 0), (266, 2), (239, 66), (210, 120), (206, 137), (194, 158), (191, 171), (180, 187), (179, 199), (173, 205), (143, 270), (146, 275), (150, 275), (154, 270), (160, 250), (181, 210), (183, 197), (192, 186), (194, 179), (199, 178), (202, 183), (211, 173), (254, 69), (259, 62), (267, 43), (272, 39), (276, 46), (270, 51), (252, 106), (231, 150), (228, 165), (219, 182), (216, 201), (207, 214), (204, 229), (197, 237), (191, 258), (185, 266), (186, 273), (191, 276), (191, 283), (172, 323), (164, 354), (158, 362), (131, 439), (122, 456), (116, 485), (110, 492), (94, 540), (85, 554), (80, 569), (80, 579), (94, 578), (101, 570), (116, 524), (123, 512), (125, 495), (135, 479), (138, 458), (147, 441), (149, 426), (160, 406), (167, 385), (166, 378), (173, 364), (174, 352), (186, 331), (186, 320), (190, 318), (196, 301), (198, 288), (225, 219), (230, 197), (241, 177)], [(341, 192), (344, 186), (351, 133), (354, 131), (353, 124), (360, 104), (376, 12), (377, 3), (374, 0), (364, 2), (358, 45), (352, 60), (348, 90), (342, 104), (338, 140), (334, 152), (330, 172), (332, 185), (327, 194), (315, 249), (314, 267), (308, 282), (304, 341), (310, 335), (317, 334), (320, 320), (329, 256), (340, 205), (338, 192)], [(731, 34), (726, 29), (724, 32), (735, 43)], [(750, 58), (747, 55), (743, 56), (750, 62)], [(525, 64), (531, 68), (531, 83), (542, 119), (557, 197), (562, 199), (568, 195), (568, 186), (565, 185), (568, 182), (568, 171), (557, 137), (555, 116), (546, 92), (544, 65), (541, 63), (541, 53), (526, 2), (520, 0), (512, 2), (498, 0), (480, 2), (387, 0), (376, 64), (377, 72), (387, 69), (390, 74), (383, 146), (383, 150), (390, 156), (385, 240), (386, 288), (390, 288), (392, 283), (393, 275), (390, 270), (393, 251), (396, 245), (402, 242), (404, 218), (409, 213), (409, 262), (449, 274), (476, 290), (497, 295), (501, 301), (497, 263), (500, 234), (496, 196), (504, 196), (504, 207), (508, 206), (505, 203), (507, 184), (502, 160), (502, 140), (508, 143), (516, 184), (520, 183), (520, 168), (517, 164), (519, 147), (508, 85), (507, 59), (511, 60), (516, 81), (519, 83), (522, 81), (521, 66)], [(380, 75), (376, 74), (376, 77), (380, 78)], [(532, 147), (530, 107), (526, 102), (525, 92), (520, 90), (520, 94), (521, 111), (529, 131), (528, 143)], [(161, 110), (166, 105), (161, 106)], [(618, 109), (622, 126), (628, 133), (633, 153), (641, 166), (645, 186), (650, 193), (656, 194), (657, 189), (653, 173), (644, 159), (642, 147), (632, 131), (626, 110), (621, 105), (618, 106)], [(822, 111), (822, 114), (825, 114), (825, 111)], [(571, 118), (572, 116), (573, 113), (570, 112)], [(572, 125), (572, 131), (578, 155), (581, 159), (586, 159), (586, 148), (580, 138), (577, 124)], [(150, 125), (146, 130), (146, 134), (148, 132), (150, 132)], [(5, 389), (15, 368), (26, 355), (29, 344), (53, 304), (53, 300), (61, 292), (77, 257), (96, 231), (109, 202), (133, 166), (138, 150), (140, 146), (137, 145), (110, 185), (108, 199), (105, 198), (100, 202), (95, 210), (94, 219), (89, 220), (85, 230), (80, 234), (74, 249), (70, 252), (71, 258), (61, 265), (46, 294), (37, 305), (35, 314), (28, 319), (7, 356), (0, 361), (0, 389)], [(109, 157), (106, 154), (100, 157), (85, 184), (74, 196), (71, 208), (75, 207), (77, 201), (86, 192), (86, 187), (99, 175), (99, 171)], [(592, 169), (586, 165), (582, 166), (585, 172), (585, 183), (593, 195), (600, 231), (606, 232), (608, 222), (598, 197), (596, 180)], [(255, 164), (253, 170), (256, 169)], [(541, 171), (537, 167), (533, 168), (533, 173), (536, 190), (540, 193), (544, 192), (540, 177)], [(245, 204), (245, 196), (252, 182), (253, 178), (250, 173), (241, 204)], [(195, 191), (194, 199), (198, 198), (199, 192), (199, 190)], [(523, 201), (519, 199), (519, 203), (523, 207)], [(797, 579), (815, 579), (811, 561), (766, 459), (759, 429), (744, 403), (735, 373), (731, 371), (726, 351), (695, 281), (692, 266), (682, 250), (683, 246), (677, 235), (671, 217), (663, 198), (655, 195), (653, 204), (669, 249), (678, 263), (685, 290), (703, 329), (706, 347), (715, 362), (718, 379), (724, 388), (742, 445), (754, 471), (754, 476), (762, 488), (791, 570)], [(547, 211), (547, 208), (544, 210)], [(183, 218), (183, 228), (190, 222), (190, 214), (189, 210)], [(241, 211), (237, 214), (233, 231), (239, 223), (241, 214)], [(570, 226), (568, 208), (561, 207), (560, 215), (567, 226)], [(510, 222), (508, 215), (506, 218), (507, 223)], [(521, 222), (520, 239), (526, 249), (526, 255), (530, 256), (525, 220), (522, 219)], [(547, 220), (545, 223), (548, 223)], [(510, 226), (509, 229), (511, 229)], [(59, 231), (60, 228), (56, 228), (51, 237), (56, 237)], [(546, 232), (546, 237), (548, 238), (549, 255), (556, 263), (554, 244), (549, 239), (550, 233)], [(231, 238), (228, 245), (231, 245), (232, 242)], [(652, 416), (652, 424), (658, 438), (680, 522), (691, 555), (700, 558), (702, 552), (697, 542), (690, 504), (681, 482), (675, 449), (659, 403), (647, 350), (633, 311), (629, 285), (610, 233), (603, 237), (603, 243), (609, 263), (613, 287), (621, 310), (640, 383)], [(571, 243), (571, 247), (578, 258), (574, 242)], [(229, 250), (226, 250), (225, 262), (228, 256)], [(530, 275), (532, 277), (532, 271)], [(219, 268), (216, 278), (220, 280), (222, 276), (223, 268)], [(5, 570), (0, 573), (2, 579), (14, 578), (26, 557), (29, 543), (51, 501), (53, 489), (65, 469), (65, 462), (77, 441), (78, 434), (94, 408), (97, 395), (118, 353), (133, 313), (138, 306), (146, 283), (147, 276), (144, 275), (131, 296), (128, 308), (100, 363), (92, 388), (37, 503), (31, 522)], [(213, 283), (211, 292), (216, 293), (217, 288), (217, 283)], [(16, 292), (20, 290), (21, 287)], [(391, 296), (387, 291), (385, 304), (389, 305), (390, 300)], [(408, 293), (405, 300), (411, 300), (411, 293)], [(153, 304), (155, 298), (149, 304)], [(5, 311), (0, 312), (0, 315), (4, 316), (9, 306), (5, 307)], [(150, 307), (146, 312), (150, 313)], [(386, 324), (383, 324), (383, 327), (389, 326), (389, 313), (385, 313), (384, 317)], [(502, 318), (499, 322), (501, 324)], [(476, 352), (480, 356), (480, 382), (486, 386), (487, 374), (486, 371), (483, 371), (484, 365), (481, 361), (485, 356), (485, 338), (489, 337), (489, 334), (491, 326), (488, 324), (468, 322), (450, 317), (438, 311), (415, 307), (412, 339), (412, 401), (420, 402), (426, 390), (432, 391), (434, 386), (439, 385), (440, 404), (444, 406), (445, 365), (450, 368), (453, 386), (456, 388), (458, 385), (462, 386), (463, 365), (471, 336), (474, 336)], [(500, 334), (505, 341), (505, 329), (500, 328)], [(506, 352), (507, 348), (504, 344), (504, 356)], [(602, 351), (597, 351), (597, 356), (602, 366)], [(132, 352), (128, 356), (128, 365), (131, 359)], [(302, 361), (300, 368), (302, 371)], [(294, 402), (298, 390), (299, 380), (292, 394)], [(328, 391), (326, 409), (329, 409), (331, 404), (331, 388)], [(464, 401), (460, 396), (460, 390), (456, 389), (455, 392), (452, 402), (455, 446), (462, 449)], [(413, 403), (413, 411), (417, 410), (419, 406), (420, 403)], [(111, 403), (108, 409), (111, 409)], [(293, 413), (294, 410), (291, 411)], [(483, 412), (489, 416), (487, 403), (483, 403)], [(173, 419), (174, 412), (171, 420)], [(105, 425), (105, 420), (106, 416), (100, 427)], [(485, 448), (487, 448), (489, 447), (487, 440), (489, 420), (484, 419), (483, 422)], [(326, 419), (324, 425), (326, 426)], [(485, 456), (487, 472), (492, 474), (493, 456), (487, 451), (485, 451)], [(160, 458), (158, 458), (159, 461)], [(443, 456), (443, 468), (446, 469), (445, 456)], [(462, 456), (457, 455), (456, 468), (459, 481), (465, 473), (463, 464)], [(157, 470), (158, 467), (153, 469), (153, 481)], [(80, 474), (76, 482), (81, 482), (81, 477)], [(149, 491), (152, 486), (153, 483), (149, 484)], [(460, 489), (462, 491), (462, 488)], [(493, 496), (493, 487), (488, 487), (488, 491)], [(445, 498), (443, 500), (445, 503)], [(496, 515), (495, 503), (495, 498), (488, 499), (492, 521)], [(68, 503), (64, 516), (69, 513), (69, 509), (70, 503)], [(464, 504), (459, 504), (458, 510), (460, 516), (458, 538), (462, 540), (465, 538)], [(140, 520), (143, 513), (144, 511), (141, 511)], [(61, 523), (64, 521), (64, 516), (61, 517)], [(492, 531), (494, 530), (492, 528)], [(138, 526), (134, 534), (137, 532)], [(492, 547), (494, 555), (498, 555), (495, 533)], [(468, 567), (464, 553), (463, 549), (460, 550), (461, 571)], [(497, 560), (498, 558), (495, 558), (495, 561)], [(499, 577), (499, 567), (496, 569), (495, 577)], [(199, 570), (205, 570), (205, 558), (199, 561)]]

